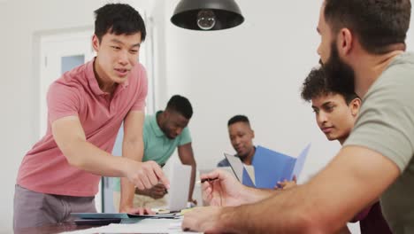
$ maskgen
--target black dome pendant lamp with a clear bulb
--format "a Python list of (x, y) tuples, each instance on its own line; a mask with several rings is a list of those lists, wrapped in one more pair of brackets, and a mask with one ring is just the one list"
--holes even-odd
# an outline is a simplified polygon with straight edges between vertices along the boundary
[(181, 0), (171, 21), (192, 30), (221, 30), (236, 27), (244, 21), (234, 0)]

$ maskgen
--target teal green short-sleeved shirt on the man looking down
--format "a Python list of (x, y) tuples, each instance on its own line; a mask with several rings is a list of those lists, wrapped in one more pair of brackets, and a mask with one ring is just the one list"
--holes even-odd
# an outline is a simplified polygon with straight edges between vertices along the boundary
[[(144, 144), (142, 161), (154, 160), (158, 165), (164, 165), (178, 146), (191, 142), (191, 136), (188, 127), (184, 128), (174, 139), (165, 136), (157, 123), (158, 113), (161, 112), (145, 116), (142, 129)], [(114, 180), (114, 191), (120, 191), (119, 178)]]

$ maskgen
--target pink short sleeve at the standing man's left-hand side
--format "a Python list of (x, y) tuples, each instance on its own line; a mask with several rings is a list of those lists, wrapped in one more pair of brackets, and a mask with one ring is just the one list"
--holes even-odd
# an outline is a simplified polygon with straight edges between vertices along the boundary
[(48, 117), (53, 122), (66, 116), (77, 116), (80, 110), (80, 94), (76, 88), (53, 82), (47, 94)]

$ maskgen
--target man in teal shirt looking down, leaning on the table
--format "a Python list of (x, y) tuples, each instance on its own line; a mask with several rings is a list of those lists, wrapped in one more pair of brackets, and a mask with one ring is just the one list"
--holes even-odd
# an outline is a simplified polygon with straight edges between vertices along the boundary
[[(165, 111), (158, 111), (154, 115), (145, 116), (143, 124), (144, 153), (142, 161), (154, 160), (161, 167), (170, 159), (175, 149), (181, 163), (190, 165), (191, 182), (188, 201), (192, 199), (196, 178), (196, 160), (191, 146), (191, 136), (188, 122), (193, 115), (193, 108), (187, 98), (174, 95), (167, 103)], [(123, 201), (119, 199), (120, 180), (115, 180), (114, 205), (118, 207)], [(139, 207), (163, 207), (166, 193), (165, 186), (158, 183), (149, 190), (135, 189), (134, 204)]]

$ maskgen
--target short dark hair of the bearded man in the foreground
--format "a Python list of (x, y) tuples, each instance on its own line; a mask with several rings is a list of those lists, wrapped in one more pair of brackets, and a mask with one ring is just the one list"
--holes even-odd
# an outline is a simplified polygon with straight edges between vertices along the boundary
[(323, 12), (334, 34), (342, 27), (355, 32), (364, 49), (373, 54), (393, 51), (410, 27), (410, 0), (325, 0)]

